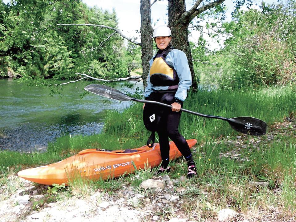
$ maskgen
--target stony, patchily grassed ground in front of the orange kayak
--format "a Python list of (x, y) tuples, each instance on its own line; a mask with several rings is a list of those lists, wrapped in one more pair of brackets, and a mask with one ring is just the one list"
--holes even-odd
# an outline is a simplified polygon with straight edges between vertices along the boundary
[[(212, 149), (210, 157), (195, 146), (193, 153), (201, 160), (207, 158), (208, 167), (194, 179), (184, 177), (182, 158), (162, 176), (143, 170), (69, 187), (35, 184), (7, 171), (0, 179), (0, 221), (212, 222), (227, 213), (222, 209), (231, 209), (234, 215), (224, 221), (295, 221), (295, 157), (289, 155), (296, 148), (295, 120), (293, 116), (273, 124), (263, 137), (239, 135), (212, 141), (212, 148), (220, 148), (216, 154)], [(278, 158), (271, 161), (276, 153)], [(287, 157), (293, 167), (285, 167)], [(256, 172), (261, 158), (265, 165)], [(157, 188), (145, 187), (142, 182), (147, 179), (157, 180)]]

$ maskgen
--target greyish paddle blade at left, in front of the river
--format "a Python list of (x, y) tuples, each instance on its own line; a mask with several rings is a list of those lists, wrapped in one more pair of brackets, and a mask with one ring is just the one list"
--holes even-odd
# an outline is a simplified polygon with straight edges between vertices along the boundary
[(121, 101), (130, 101), (132, 97), (129, 97), (119, 90), (100, 84), (90, 84), (84, 87), (88, 92), (92, 92), (99, 96), (107, 97), (110, 99), (121, 100)]

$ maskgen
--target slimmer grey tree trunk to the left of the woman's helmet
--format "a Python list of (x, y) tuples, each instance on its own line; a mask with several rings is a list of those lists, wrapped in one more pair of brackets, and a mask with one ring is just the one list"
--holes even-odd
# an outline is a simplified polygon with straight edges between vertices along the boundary
[(147, 77), (149, 75), (149, 61), (153, 56), (153, 39), (151, 27), (151, 9), (150, 0), (141, 0), (141, 44), (142, 44), (142, 67), (143, 67), (143, 85), (144, 89), (147, 86)]

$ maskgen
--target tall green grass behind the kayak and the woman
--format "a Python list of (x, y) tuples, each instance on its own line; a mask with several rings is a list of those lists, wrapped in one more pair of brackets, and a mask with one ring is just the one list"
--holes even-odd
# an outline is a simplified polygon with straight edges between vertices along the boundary
[[(270, 126), (282, 121), (296, 110), (296, 94), (292, 87), (262, 88), (242, 91), (207, 91), (190, 93), (184, 108), (199, 113), (223, 117), (251, 116), (260, 118)], [(218, 138), (220, 135), (237, 135), (226, 121), (208, 119), (183, 113), (179, 130), (185, 138), (196, 138), (199, 144)], [(127, 149), (146, 144), (150, 132), (142, 121), (142, 104), (135, 103), (128, 109), (106, 113), (102, 134), (90, 136), (70, 135), (58, 138), (48, 145), (44, 153), (18, 153), (0, 151), (2, 170), (10, 166), (35, 166), (56, 162), (88, 148)], [(157, 140), (157, 138), (156, 138)], [(213, 155), (213, 154), (212, 154)]]

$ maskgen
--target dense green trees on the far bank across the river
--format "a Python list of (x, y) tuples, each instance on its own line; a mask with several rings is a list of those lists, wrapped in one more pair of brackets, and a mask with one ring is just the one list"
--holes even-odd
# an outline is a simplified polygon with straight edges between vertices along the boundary
[(89, 8), (77, 0), (19, 0), (0, 3), (0, 77), (73, 79), (75, 73), (119, 78), (139, 67), (139, 48), (128, 46), (110, 29), (57, 26), (93, 23), (117, 28), (115, 11)]

